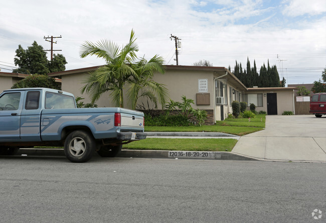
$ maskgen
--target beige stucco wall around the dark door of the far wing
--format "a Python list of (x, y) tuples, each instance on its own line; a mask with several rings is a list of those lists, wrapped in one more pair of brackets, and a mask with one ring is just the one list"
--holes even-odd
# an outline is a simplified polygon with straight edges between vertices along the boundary
[[(263, 94), (263, 106), (256, 106), (256, 111), (264, 110), (267, 112), (267, 93), (276, 93), (277, 97), (277, 115), (282, 115), (283, 111), (292, 111), (294, 113), (293, 106), (293, 90), (250, 90), (246, 93), (262, 93)], [(265, 96), (266, 95), (266, 96)], [(249, 104), (248, 104), (249, 109)]]

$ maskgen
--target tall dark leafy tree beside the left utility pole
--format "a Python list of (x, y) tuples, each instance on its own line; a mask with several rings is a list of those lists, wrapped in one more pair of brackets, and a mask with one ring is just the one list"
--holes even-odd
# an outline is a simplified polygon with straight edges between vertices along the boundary
[(67, 61), (63, 55), (54, 54), (53, 61), (49, 61), (46, 54), (43, 47), (38, 45), (36, 41), (26, 50), (19, 45), (14, 58), (18, 69), (15, 69), (13, 73), (48, 74), (66, 69)]

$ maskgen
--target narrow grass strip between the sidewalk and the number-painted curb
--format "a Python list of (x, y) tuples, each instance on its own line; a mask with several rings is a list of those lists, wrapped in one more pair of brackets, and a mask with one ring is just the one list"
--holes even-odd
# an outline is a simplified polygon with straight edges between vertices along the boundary
[(129, 150), (232, 151), (235, 139), (161, 139), (148, 138), (123, 145)]

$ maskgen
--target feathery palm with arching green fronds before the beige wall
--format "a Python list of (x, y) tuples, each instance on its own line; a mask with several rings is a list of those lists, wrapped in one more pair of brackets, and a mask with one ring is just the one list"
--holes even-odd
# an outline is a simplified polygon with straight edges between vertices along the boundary
[[(164, 73), (163, 59), (155, 55), (148, 62), (137, 60), (138, 45), (131, 30), (129, 42), (120, 47), (110, 41), (102, 40), (95, 44), (86, 41), (81, 46), (80, 57), (96, 55), (106, 61), (106, 65), (90, 72), (83, 81), (81, 92), (88, 93), (94, 103), (103, 93), (110, 91), (114, 105), (123, 107), (123, 90), (127, 88), (128, 105), (135, 109), (139, 97), (147, 97), (157, 107), (157, 98), (164, 107), (168, 99), (167, 88), (152, 80), (154, 72)], [(139, 95), (140, 91), (140, 95)]]

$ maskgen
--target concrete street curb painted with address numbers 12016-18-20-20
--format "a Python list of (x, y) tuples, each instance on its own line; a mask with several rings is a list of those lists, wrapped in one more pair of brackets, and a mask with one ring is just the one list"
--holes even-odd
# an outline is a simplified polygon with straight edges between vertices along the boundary
[[(194, 157), (169, 157), (169, 152), (167, 150), (122, 150), (117, 157), (121, 158), (167, 158), (167, 159), (194, 159)], [(186, 151), (173, 151), (173, 152), (183, 152)], [(187, 151), (190, 152), (190, 151)], [(194, 152), (194, 151), (191, 151)], [(205, 153), (205, 152), (203, 152)], [(215, 159), (215, 160), (247, 160), (247, 161), (257, 161), (258, 159), (242, 156), (232, 152), (207, 152), (210, 153), (211, 157), (198, 157), (197, 159)], [(18, 156), (65, 156), (63, 149), (20, 149)], [(98, 156), (97, 153), (94, 156)]]

